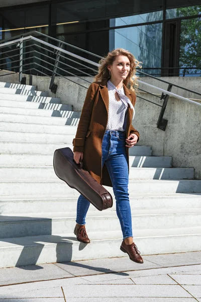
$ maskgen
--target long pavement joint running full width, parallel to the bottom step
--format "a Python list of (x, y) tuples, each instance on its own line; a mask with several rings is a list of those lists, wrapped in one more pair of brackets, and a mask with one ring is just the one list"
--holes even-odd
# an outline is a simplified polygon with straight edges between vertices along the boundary
[[(94, 259), (93, 259), (94, 260)], [(86, 260), (83, 260), (86, 261)], [(73, 262), (73, 261), (72, 261)], [(59, 263), (59, 262), (58, 262)], [(47, 263), (48, 264), (48, 263)], [(54, 264), (54, 263), (52, 263)], [(193, 265), (201, 265), (201, 264), (186, 264), (186, 265), (177, 265), (177, 266), (161, 266), (161, 267), (152, 267), (152, 268), (145, 268), (143, 271), (146, 270), (152, 270), (152, 269), (161, 269), (161, 268), (174, 268), (174, 267), (182, 267), (182, 266), (193, 266)], [(12, 268), (12, 267), (7, 267)], [(90, 274), (90, 275), (78, 275), (78, 276), (72, 276), (72, 277), (62, 277), (62, 278), (53, 278), (53, 279), (45, 279), (45, 280), (36, 280), (36, 281), (27, 281), (27, 282), (19, 282), (19, 283), (10, 283), (10, 284), (4, 284), (0, 285), (0, 287), (4, 286), (11, 286), (11, 285), (19, 285), (19, 284), (27, 284), (27, 283), (36, 283), (36, 282), (45, 282), (45, 281), (53, 281), (53, 280), (61, 280), (61, 279), (71, 279), (71, 278), (82, 278), (82, 277), (89, 277), (89, 276), (96, 276), (96, 275), (104, 275), (104, 274), (114, 274), (114, 273), (126, 273), (126, 272), (133, 272), (133, 271), (141, 271), (142, 269), (130, 269), (130, 270), (124, 270), (124, 271), (114, 271), (114, 272), (103, 272), (103, 273), (97, 273), (97, 274)], [(179, 274), (179, 273), (178, 273)], [(178, 282), (177, 282), (178, 283)], [(136, 284), (137, 285), (137, 284)], [(1, 302), (1, 300), (0, 300)], [(198, 301), (199, 302), (199, 301)]]

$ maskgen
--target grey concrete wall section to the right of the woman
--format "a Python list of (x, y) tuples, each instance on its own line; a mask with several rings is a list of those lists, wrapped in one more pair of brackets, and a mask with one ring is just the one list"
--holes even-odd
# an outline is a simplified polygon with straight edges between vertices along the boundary
[[(162, 78), (162, 80), (201, 93), (200, 77)], [(167, 89), (167, 84), (158, 83), (154, 79), (144, 78), (142, 81), (158, 84), (158, 87)], [(144, 89), (142, 85), (140, 88)], [(149, 91), (159, 93), (152, 89)], [(179, 88), (173, 88), (172, 92), (186, 98), (201, 99), (201, 96), (184, 92)], [(144, 97), (162, 105), (162, 101), (156, 97), (145, 94)], [(135, 109), (134, 126), (141, 134), (139, 145), (151, 146), (154, 156), (172, 156), (173, 167), (194, 168), (195, 178), (201, 179), (201, 107), (170, 97), (164, 114), (164, 118), (168, 120), (165, 131), (156, 127), (160, 107), (137, 98)]]

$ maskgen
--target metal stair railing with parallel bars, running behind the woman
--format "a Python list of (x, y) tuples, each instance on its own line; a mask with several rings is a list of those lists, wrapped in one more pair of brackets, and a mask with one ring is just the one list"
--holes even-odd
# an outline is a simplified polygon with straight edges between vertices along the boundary
[[(56, 75), (85, 89), (88, 88), (83, 85), (83, 82), (87, 84), (91, 83), (91, 81), (88, 80), (91, 77), (94, 77), (94, 75), (97, 73), (97, 68), (99, 66), (97, 59), (99, 60), (102, 57), (64, 41), (38, 33), (36, 31), (32, 32), (32, 34), (33, 35), (31, 35), (31, 33), (25, 34), (23, 37), (17, 36), (17, 39), (11, 38), (0, 43), (1, 69), (10, 70), (15, 73), (19, 72), (19, 82), (22, 84), (26, 83), (26, 78), (23, 78), (23, 74), (26, 73), (29, 73), (30, 75), (33, 73), (36, 73), (37, 75), (43, 74), (46, 77), (50, 77), (51, 81), (49, 89), (54, 93), (56, 93), (57, 89), (57, 85), (54, 84)], [(36, 37), (37, 35), (42, 36), (43, 39), (39, 39), (38, 37)], [(51, 41), (51, 43), (47, 41)], [(72, 48), (72, 50), (69, 51), (67, 50), (68, 48)], [(76, 54), (76, 52), (81, 55)], [(163, 115), (168, 103), (169, 96), (196, 106), (201, 106), (201, 103), (199, 103), (198, 99), (196, 102), (191, 99), (182, 97), (180, 95), (172, 93), (171, 89), (172, 87), (176, 87), (197, 96), (201, 96), (201, 93), (161, 80), (151, 74), (147, 74), (141, 71), (140, 69), (137, 69), (137, 72), (139, 75), (145, 75), (146, 77), (150, 77), (156, 81), (163, 82), (168, 85), (167, 90), (165, 90), (155, 85), (151, 85), (149, 83), (138, 80), (139, 84), (148, 88), (147, 90), (143, 90), (139, 87), (138, 90), (157, 97), (161, 101), (163, 100), (162, 104), (157, 104), (143, 98), (138, 94), (139, 98), (161, 107), (161, 112), (157, 121), (157, 127), (159, 129), (164, 131), (167, 125), (167, 120), (163, 118)], [(72, 78), (67, 78), (66, 74), (68, 74)], [(162, 93), (161, 96), (150, 92), (150, 88)]]

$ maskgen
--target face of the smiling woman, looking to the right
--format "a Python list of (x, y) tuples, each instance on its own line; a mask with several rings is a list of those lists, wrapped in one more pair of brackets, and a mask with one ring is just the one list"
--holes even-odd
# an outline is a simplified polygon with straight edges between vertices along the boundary
[(111, 78), (125, 80), (130, 71), (130, 60), (125, 55), (118, 55), (108, 69), (111, 71)]

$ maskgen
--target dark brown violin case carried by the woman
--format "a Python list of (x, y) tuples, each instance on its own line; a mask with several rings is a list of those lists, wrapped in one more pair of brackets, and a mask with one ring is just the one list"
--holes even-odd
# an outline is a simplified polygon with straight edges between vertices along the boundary
[(99, 211), (113, 206), (111, 194), (86, 171), (82, 162), (75, 163), (70, 148), (56, 149), (53, 165), (58, 178), (65, 181), (69, 187), (76, 189)]

